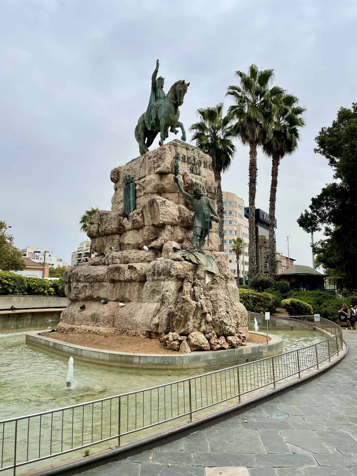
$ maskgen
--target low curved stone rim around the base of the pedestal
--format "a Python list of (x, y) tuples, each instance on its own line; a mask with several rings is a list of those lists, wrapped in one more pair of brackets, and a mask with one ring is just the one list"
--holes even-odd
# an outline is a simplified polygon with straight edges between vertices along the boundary
[[(252, 332), (265, 336), (263, 332)], [(38, 336), (38, 331), (26, 332), (26, 343), (56, 354), (85, 362), (123, 369), (194, 370), (207, 372), (214, 367), (235, 365), (250, 360), (271, 357), (283, 351), (282, 338), (270, 335), (268, 344), (248, 343), (236, 349), (195, 351), (190, 354), (133, 354), (114, 350), (77, 346), (51, 337)]]

